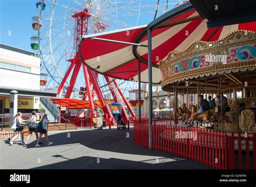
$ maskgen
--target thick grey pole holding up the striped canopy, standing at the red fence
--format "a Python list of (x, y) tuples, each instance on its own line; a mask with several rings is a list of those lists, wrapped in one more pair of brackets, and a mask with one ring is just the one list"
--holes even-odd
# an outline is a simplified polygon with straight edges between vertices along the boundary
[(151, 149), (151, 126), (152, 126), (152, 38), (151, 29), (147, 30), (148, 71), (149, 71), (149, 149)]

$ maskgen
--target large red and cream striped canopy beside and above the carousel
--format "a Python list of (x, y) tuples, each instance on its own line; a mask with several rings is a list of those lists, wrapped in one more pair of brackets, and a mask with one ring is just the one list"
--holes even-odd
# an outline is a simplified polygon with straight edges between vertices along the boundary
[[(92, 70), (109, 77), (138, 80), (138, 61), (141, 61), (141, 81), (148, 81), (147, 29), (152, 29), (152, 80), (160, 84), (159, 60), (170, 51), (183, 51), (191, 43), (216, 41), (237, 30), (256, 31), (256, 22), (207, 27), (194, 6), (184, 3), (158, 17), (149, 25), (84, 36), (79, 44), (82, 62)], [(109, 40), (124, 41), (124, 43)], [(130, 45), (135, 43), (138, 45)]]

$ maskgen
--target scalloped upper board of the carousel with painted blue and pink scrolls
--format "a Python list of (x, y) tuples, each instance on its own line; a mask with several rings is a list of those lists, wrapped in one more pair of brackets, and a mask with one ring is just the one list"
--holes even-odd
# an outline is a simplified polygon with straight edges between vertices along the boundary
[[(221, 72), (227, 66), (239, 66), (241, 69), (248, 61), (255, 63), (256, 35), (245, 35), (244, 32), (234, 31), (227, 37), (210, 43), (196, 41), (184, 51), (170, 52), (165, 60), (160, 61), (162, 78), (190, 71), (193, 74), (194, 70), (212, 72), (218, 68)], [(250, 67), (246, 65), (246, 68)]]

